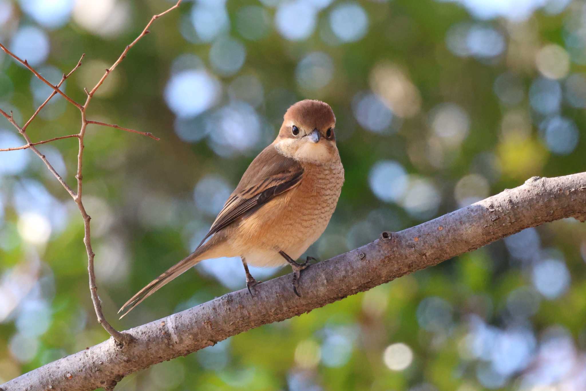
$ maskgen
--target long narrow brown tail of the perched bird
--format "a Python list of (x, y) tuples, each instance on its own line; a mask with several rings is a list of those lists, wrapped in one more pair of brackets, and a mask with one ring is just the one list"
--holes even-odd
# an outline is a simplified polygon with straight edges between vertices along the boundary
[(124, 305), (122, 305), (122, 308), (120, 308), (118, 311), (118, 314), (122, 312), (120, 319), (124, 318), (124, 316), (128, 314), (128, 312), (132, 311), (132, 309), (138, 304), (141, 304), (145, 298), (154, 294), (166, 283), (169, 283), (176, 277), (179, 277), (180, 274), (183, 274), (185, 271), (189, 270), (190, 267), (195, 266), (195, 264), (199, 263), (199, 261), (214, 258), (213, 254), (210, 254), (216, 252), (210, 251), (214, 250), (213, 247), (216, 247), (218, 242), (214, 239), (216, 238), (212, 237), (212, 239), (210, 239), (206, 244), (198, 247), (195, 251), (193, 251), (193, 253), (189, 254), (188, 257), (180, 260), (177, 264), (175, 264), (175, 266), (172, 266), (169, 268), (169, 270), (165, 271), (165, 273), (161, 274), (161, 276), (156, 277), (155, 280), (152, 280), (146, 287), (139, 290), (138, 293), (132, 296), (130, 300), (125, 302)]

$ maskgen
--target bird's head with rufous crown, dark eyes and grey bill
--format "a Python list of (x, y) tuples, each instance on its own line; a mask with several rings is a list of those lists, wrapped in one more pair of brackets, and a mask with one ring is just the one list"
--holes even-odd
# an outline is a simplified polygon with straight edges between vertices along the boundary
[(338, 157), (334, 128), (336, 117), (329, 104), (302, 100), (285, 113), (275, 148), (300, 162), (323, 164)]

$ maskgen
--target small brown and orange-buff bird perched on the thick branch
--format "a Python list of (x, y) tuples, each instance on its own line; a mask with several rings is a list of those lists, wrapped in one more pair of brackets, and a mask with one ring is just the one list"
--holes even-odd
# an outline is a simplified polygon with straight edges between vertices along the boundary
[(196, 250), (125, 302), (120, 319), (195, 264), (220, 257), (240, 257), (251, 295), (262, 281), (251, 276), (249, 264), (290, 264), (293, 291), (301, 297), (301, 271), (315, 259), (295, 260), (328, 226), (344, 182), (335, 126), (325, 102), (306, 99), (289, 107), (277, 138), (253, 159)]

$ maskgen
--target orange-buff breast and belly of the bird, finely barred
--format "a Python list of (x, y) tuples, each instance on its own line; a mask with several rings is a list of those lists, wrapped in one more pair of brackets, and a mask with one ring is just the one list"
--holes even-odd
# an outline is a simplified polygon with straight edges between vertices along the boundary
[(341, 162), (304, 165), (301, 183), (240, 222), (230, 240), (254, 266), (278, 266), (278, 251), (298, 259), (328, 226), (344, 182)]

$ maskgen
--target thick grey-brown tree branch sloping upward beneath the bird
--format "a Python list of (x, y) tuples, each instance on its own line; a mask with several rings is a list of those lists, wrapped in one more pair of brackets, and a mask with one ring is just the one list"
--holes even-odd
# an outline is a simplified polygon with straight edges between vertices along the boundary
[(303, 274), (298, 298), (291, 275), (128, 330), (122, 348), (108, 339), (5, 383), (12, 390), (111, 389), (124, 376), (188, 355), (229, 336), (282, 321), (368, 290), (553, 220), (586, 220), (586, 172), (528, 179), (473, 205), (315, 264)]

